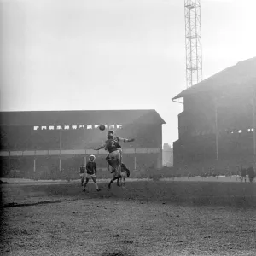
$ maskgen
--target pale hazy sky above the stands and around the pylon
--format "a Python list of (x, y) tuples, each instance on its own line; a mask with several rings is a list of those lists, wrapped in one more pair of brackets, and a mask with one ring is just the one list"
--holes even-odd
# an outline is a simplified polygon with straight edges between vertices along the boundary
[[(256, 55), (255, 0), (201, 0), (203, 79)], [(0, 110), (156, 109), (178, 138), (183, 0), (0, 0)]]

